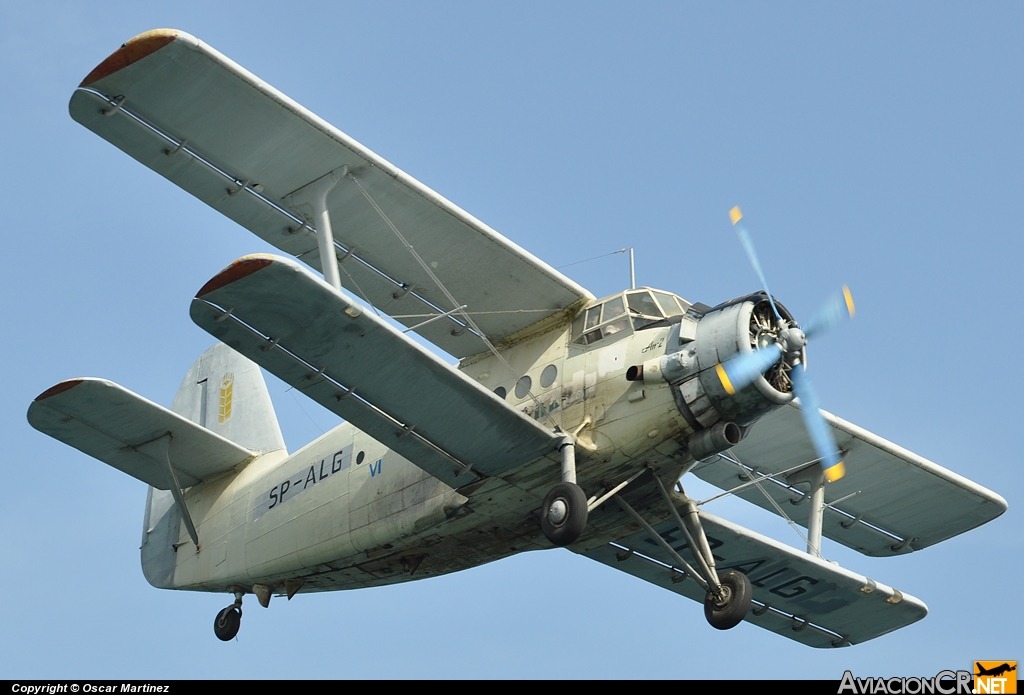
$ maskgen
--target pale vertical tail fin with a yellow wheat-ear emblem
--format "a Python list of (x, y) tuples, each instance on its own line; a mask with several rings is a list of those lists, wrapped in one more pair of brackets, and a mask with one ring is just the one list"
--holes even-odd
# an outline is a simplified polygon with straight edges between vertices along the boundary
[(252, 451), (285, 448), (259, 366), (223, 343), (191, 365), (171, 410)]

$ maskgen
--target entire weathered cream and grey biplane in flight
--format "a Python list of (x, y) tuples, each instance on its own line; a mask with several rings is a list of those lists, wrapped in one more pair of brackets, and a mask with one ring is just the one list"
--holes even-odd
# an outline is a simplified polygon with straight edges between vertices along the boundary
[[(207, 283), (191, 317), (222, 342), (170, 409), (100, 379), (29, 408), (38, 430), (150, 485), (145, 577), (232, 594), (221, 640), (249, 593), (266, 607), (564, 546), (702, 602), (715, 627), (841, 647), (927, 608), (826, 562), (822, 535), (901, 555), (1007, 509), (818, 409), (806, 344), (852, 299), (798, 327), (738, 209), (762, 292), (715, 307), (647, 288), (596, 300), (183, 32), (125, 43), (71, 114), (324, 274), (254, 255)], [(289, 454), (260, 366), (345, 424)], [(686, 474), (795, 516), (807, 552), (702, 511)]]

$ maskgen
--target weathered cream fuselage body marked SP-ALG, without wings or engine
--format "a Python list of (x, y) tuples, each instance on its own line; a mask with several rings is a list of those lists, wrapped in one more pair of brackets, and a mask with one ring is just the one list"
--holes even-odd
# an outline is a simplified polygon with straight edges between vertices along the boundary
[[(577, 432), (579, 482), (588, 494), (620, 482), (638, 462), (670, 484), (684, 464), (676, 439), (688, 433), (668, 384), (626, 380), (629, 366), (664, 354), (667, 325), (569, 343), (568, 325), (461, 368), (542, 423)], [(552, 368), (553, 367), (553, 368)], [(553, 377), (553, 378), (552, 378)], [(530, 388), (520, 387), (524, 379)], [(550, 548), (538, 522), (559, 480), (555, 452), (510, 475), (455, 490), (345, 423), (290, 454), (270, 453), (239, 473), (196, 485), (185, 501), (199, 552), (167, 492), (151, 490), (142, 562), (154, 585), (191, 591), (283, 592), (379, 585), (458, 571)], [(580, 542), (622, 535), (598, 515)], [(611, 522), (611, 519), (608, 519)]]

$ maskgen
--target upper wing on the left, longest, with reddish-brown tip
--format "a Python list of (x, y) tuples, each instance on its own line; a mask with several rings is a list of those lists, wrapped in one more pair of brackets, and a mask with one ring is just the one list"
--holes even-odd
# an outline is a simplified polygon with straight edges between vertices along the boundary
[[(72, 117), (279, 249), (319, 268), (286, 198), (347, 167), (492, 341), (593, 299), (544, 262), (195, 37), (156, 30), (82, 82)], [(415, 325), (455, 308), (354, 181), (328, 198), (342, 284)], [(298, 231), (295, 231), (297, 230)], [(345, 259), (346, 256), (349, 256)], [(418, 315), (418, 316), (417, 316)], [(482, 352), (457, 318), (418, 332), (457, 357)]]

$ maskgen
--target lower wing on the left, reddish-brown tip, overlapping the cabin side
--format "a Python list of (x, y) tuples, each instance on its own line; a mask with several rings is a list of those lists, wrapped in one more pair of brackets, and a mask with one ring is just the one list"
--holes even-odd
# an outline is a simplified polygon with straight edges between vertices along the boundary
[(453, 487), (560, 437), (292, 260), (247, 256), (193, 300), (200, 327)]

